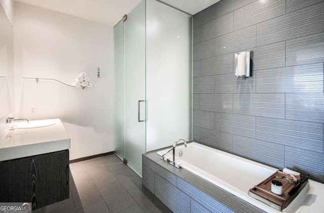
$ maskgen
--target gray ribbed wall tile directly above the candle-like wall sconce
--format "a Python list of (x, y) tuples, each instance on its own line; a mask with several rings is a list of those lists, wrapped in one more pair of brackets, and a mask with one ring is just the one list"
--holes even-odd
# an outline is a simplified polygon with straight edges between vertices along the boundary
[(256, 25), (215, 38), (216, 56), (248, 50), (256, 46)]

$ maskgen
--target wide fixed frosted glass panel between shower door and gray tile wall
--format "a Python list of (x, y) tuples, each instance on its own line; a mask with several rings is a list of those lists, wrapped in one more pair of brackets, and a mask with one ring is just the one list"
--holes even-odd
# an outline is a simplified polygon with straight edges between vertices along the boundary
[(146, 1), (146, 151), (192, 137), (191, 19)]

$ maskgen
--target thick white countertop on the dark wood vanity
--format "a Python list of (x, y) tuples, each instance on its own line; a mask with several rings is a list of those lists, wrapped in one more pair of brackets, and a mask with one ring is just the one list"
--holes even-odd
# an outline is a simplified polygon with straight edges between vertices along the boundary
[(70, 137), (66, 133), (60, 119), (39, 121), (53, 121), (56, 124), (40, 128), (6, 129), (0, 134), (0, 161), (70, 148)]

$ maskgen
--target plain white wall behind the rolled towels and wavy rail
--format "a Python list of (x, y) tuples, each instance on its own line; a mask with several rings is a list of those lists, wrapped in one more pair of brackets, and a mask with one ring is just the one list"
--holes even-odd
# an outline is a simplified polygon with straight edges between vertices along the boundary
[[(15, 2), (14, 47), (15, 118), (60, 118), (71, 138), (70, 159), (113, 151), (113, 28)], [(94, 88), (22, 80), (72, 84), (83, 71)]]

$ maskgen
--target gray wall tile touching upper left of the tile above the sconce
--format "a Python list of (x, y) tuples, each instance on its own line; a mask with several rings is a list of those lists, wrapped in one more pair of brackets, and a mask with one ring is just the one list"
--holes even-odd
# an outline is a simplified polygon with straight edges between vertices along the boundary
[(200, 26), (200, 41), (207, 41), (212, 38), (230, 33), (233, 31), (233, 12), (220, 18), (214, 19)]

